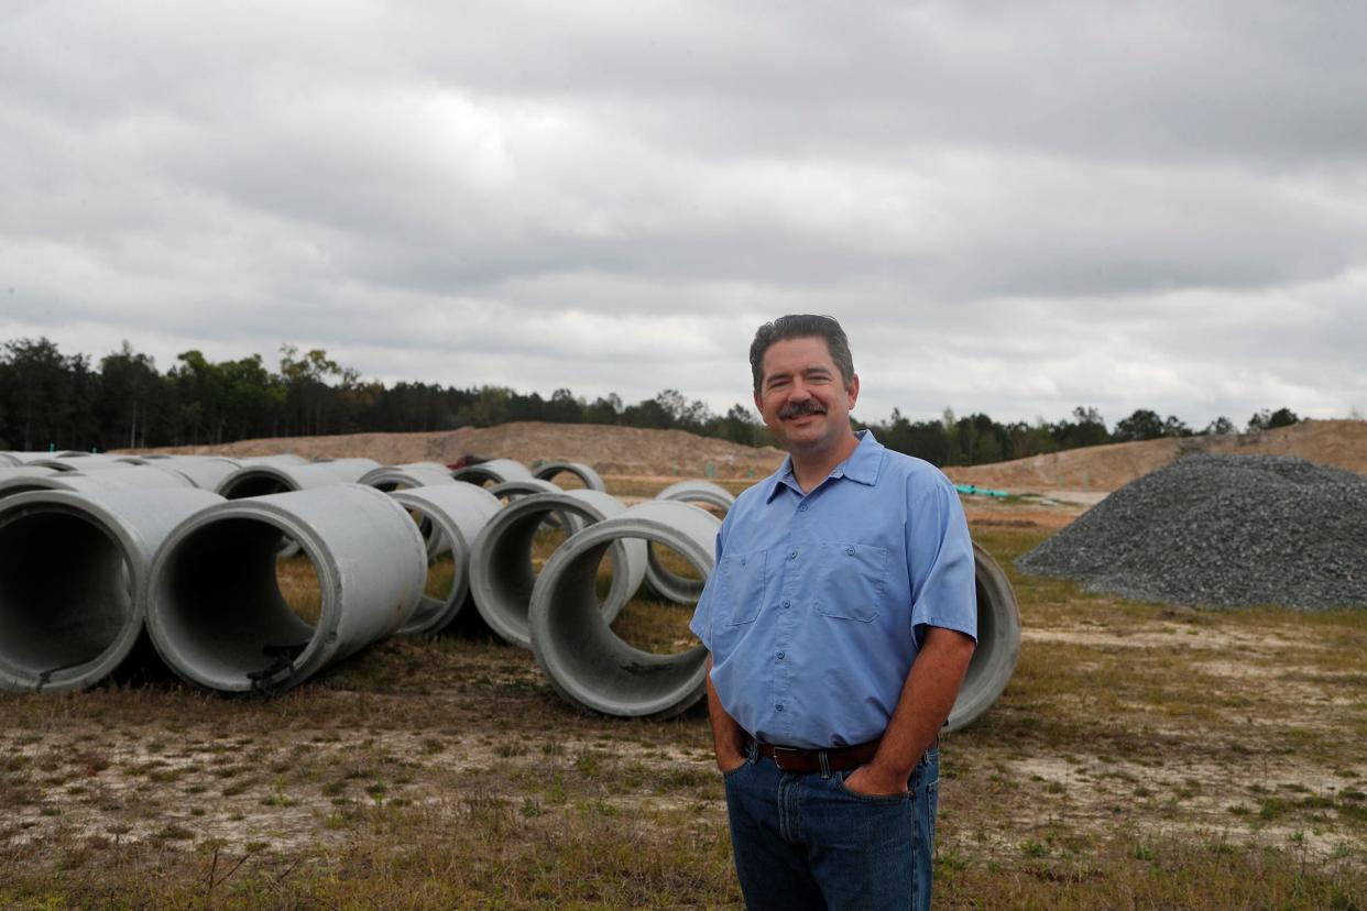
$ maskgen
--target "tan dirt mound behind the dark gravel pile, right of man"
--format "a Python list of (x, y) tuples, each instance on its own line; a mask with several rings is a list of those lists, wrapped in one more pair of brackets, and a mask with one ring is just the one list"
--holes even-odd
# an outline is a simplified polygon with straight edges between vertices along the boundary
[(958, 483), (1010, 490), (1115, 490), (1197, 452), (1289, 455), (1367, 474), (1367, 421), (1303, 421), (1262, 433), (1113, 443), (945, 473)]

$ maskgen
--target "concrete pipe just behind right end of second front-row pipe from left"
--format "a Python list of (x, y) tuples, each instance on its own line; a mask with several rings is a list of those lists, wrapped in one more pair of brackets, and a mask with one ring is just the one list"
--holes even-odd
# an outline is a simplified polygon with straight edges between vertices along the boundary
[[(450, 473), (447, 473), (450, 477)], [(440, 541), (442, 550), (428, 549), (428, 563), (451, 555), (451, 585), (444, 597), (424, 593), (413, 617), (399, 630), (401, 635), (437, 632), (457, 617), (470, 593), (470, 549), (480, 531), (503, 508), (499, 499), (473, 483), (433, 483), (390, 493), (394, 500), (414, 514), (421, 524), (431, 526), (429, 539)]]

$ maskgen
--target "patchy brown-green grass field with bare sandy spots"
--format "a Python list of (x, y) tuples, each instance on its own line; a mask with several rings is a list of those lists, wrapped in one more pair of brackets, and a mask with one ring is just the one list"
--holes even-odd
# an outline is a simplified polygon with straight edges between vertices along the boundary
[[(1044, 534), (975, 527), (1025, 641), (942, 744), (938, 907), (1367, 908), (1367, 611), (1014, 574)], [(686, 620), (637, 604), (619, 624), (673, 650)], [(705, 717), (580, 714), (487, 639), (388, 641), (268, 702), (167, 679), (4, 695), (0, 742), (3, 907), (740, 899)]]

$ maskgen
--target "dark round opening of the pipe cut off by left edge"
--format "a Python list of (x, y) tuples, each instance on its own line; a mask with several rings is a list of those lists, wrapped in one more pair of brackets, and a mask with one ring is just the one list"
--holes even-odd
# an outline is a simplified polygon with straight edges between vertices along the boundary
[(113, 537), (89, 519), (26, 509), (0, 526), (0, 667), (41, 686), (116, 646), (134, 605)]

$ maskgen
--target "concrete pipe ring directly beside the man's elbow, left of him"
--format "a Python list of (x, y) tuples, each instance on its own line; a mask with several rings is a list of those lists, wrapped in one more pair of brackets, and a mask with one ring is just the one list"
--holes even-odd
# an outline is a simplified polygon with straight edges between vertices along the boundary
[(649, 500), (566, 541), (532, 590), (532, 651), (570, 703), (621, 717), (670, 718), (707, 692), (707, 650), (653, 654), (623, 642), (599, 612), (595, 583), (617, 541), (673, 548), (704, 578), (712, 571), (716, 516), (684, 503)]

